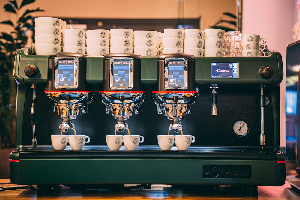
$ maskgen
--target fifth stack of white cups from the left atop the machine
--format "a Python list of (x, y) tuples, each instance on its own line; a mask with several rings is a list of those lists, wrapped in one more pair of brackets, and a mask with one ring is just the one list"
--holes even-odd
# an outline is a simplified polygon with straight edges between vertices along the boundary
[(157, 56), (163, 53), (162, 33), (134, 31), (134, 53), (140, 56)]

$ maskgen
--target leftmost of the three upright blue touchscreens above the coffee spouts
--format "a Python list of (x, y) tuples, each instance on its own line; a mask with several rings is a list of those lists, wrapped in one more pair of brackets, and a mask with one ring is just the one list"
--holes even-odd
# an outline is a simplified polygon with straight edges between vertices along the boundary
[(58, 86), (74, 86), (75, 61), (70, 59), (58, 60)]

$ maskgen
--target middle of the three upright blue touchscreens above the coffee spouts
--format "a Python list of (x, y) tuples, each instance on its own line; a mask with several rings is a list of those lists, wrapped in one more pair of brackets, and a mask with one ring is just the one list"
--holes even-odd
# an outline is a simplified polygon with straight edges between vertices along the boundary
[(130, 60), (128, 58), (119, 58), (113, 60), (113, 86), (130, 86), (129, 69)]

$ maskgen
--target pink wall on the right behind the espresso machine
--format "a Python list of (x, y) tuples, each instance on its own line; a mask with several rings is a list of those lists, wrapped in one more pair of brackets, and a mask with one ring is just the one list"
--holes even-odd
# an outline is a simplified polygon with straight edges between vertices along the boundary
[[(284, 72), (286, 46), (294, 42), (295, 6), (296, 0), (243, 0), (242, 33), (265, 37), (268, 49), (281, 53)], [(280, 147), (285, 147), (285, 75), (280, 87)]]

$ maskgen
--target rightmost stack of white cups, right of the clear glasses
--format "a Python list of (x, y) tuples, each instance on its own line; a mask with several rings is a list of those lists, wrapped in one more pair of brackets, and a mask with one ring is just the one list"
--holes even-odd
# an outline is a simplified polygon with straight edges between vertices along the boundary
[(266, 49), (266, 41), (265, 37), (260, 37), (260, 35), (249, 33), (243, 34), (243, 56), (265, 56), (264, 50)]

